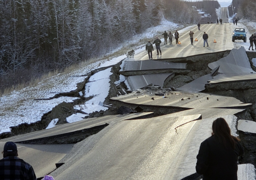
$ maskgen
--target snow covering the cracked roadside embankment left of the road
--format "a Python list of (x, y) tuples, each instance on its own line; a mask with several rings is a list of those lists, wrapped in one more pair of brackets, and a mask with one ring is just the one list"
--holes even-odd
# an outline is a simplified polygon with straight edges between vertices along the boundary
[[(176, 30), (177, 28), (181, 28), (183, 26), (179, 26), (175, 23), (163, 20), (159, 26), (151, 27), (145, 29), (145, 32), (134, 36), (131, 42), (127, 43), (138, 43), (141, 39), (144, 38), (153, 38), (159, 32), (164, 32), (164, 30)], [(146, 44), (146, 42), (145, 42)], [(137, 48), (136, 53), (144, 51), (145, 45), (135, 47)], [(41, 120), (41, 117), (52, 110), (53, 107), (60, 104), (61, 102), (72, 102), (76, 98), (73, 97), (60, 97), (51, 100), (34, 100), (34, 99), (48, 99), (54, 97), (54, 95), (60, 92), (70, 92), (75, 90), (76, 84), (84, 81), (87, 77), (84, 76), (91, 70), (107, 67), (109, 65), (113, 65), (119, 63), (124, 60), (126, 55), (113, 57), (111, 59), (106, 59), (102, 61), (98, 61), (95, 63), (91, 63), (89, 65), (80, 66), (79, 68), (70, 71), (68, 73), (60, 73), (50, 78), (46, 78), (40, 81), (37, 85), (26, 87), (21, 90), (13, 91), (9, 94), (2, 95), (0, 97), (0, 134), (3, 132), (10, 132), (10, 126), (17, 126), (21, 123), (32, 123)], [(106, 72), (106, 71), (105, 71)], [(97, 75), (96, 75), (97, 74)], [(96, 73), (95, 76), (99, 74)], [(106, 110), (107, 107), (100, 106), (99, 101), (103, 102), (109, 91), (109, 83), (106, 81), (106, 78), (109, 78), (110, 71), (106, 72), (105, 79), (97, 81), (95, 83), (89, 82), (87, 83), (87, 89), (90, 89), (90, 92), (86, 93), (86, 97), (90, 95), (96, 95), (93, 99), (90, 99), (85, 104), (76, 106), (76, 109), (82, 110), (86, 113), (92, 113), (93, 111)], [(122, 77), (122, 76), (121, 76)], [(125, 79), (125, 77), (123, 77)], [(91, 81), (91, 80), (90, 80)], [(92, 80), (94, 81), (94, 80)], [(119, 81), (118, 83), (120, 83)], [(104, 87), (106, 84), (106, 87)], [(99, 89), (101, 93), (99, 93)], [(97, 93), (96, 93), (97, 92)], [(98, 95), (97, 95), (98, 94)], [(75, 116), (75, 115), (74, 115)], [(85, 117), (86, 115), (81, 115)], [(75, 119), (73, 116), (68, 118), (69, 122), (74, 122)], [(77, 116), (79, 119), (79, 116)], [(54, 121), (53, 121), (54, 122)], [(54, 126), (54, 123), (51, 122), (50, 127)]]

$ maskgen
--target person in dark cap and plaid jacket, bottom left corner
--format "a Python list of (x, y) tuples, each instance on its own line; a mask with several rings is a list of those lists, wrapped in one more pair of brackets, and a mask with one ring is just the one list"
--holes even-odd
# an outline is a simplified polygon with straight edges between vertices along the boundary
[(14, 142), (7, 142), (2, 152), (4, 158), (0, 160), (1, 180), (36, 180), (32, 166), (18, 158), (17, 146)]

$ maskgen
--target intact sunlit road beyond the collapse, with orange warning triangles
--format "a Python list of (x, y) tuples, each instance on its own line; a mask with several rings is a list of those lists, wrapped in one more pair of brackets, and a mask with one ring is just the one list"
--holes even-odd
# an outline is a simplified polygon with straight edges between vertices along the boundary
[[(225, 8), (224, 8), (225, 9)], [(223, 11), (223, 16), (226, 14), (226, 11)], [(223, 17), (223, 22), (227, 21), (224, 20), (227, 18)], [(193, 31), (194, 34), (194, 42), (193, 45), (190, 43), (190, 37), (189, 37), (189, 31)], [(208, 44), (209, 47), (203, 47), (204, 46), (204, 40), (203, 40), (203, 34), (206, 32), (209, 36), (208, 38)], [(219, 52), (224, 51), (227, 49), (234, 48), (234, 45), (232, 43), (232, 32), (233, 27), (231, 23), (223, 23), (222, 25), (216, 25), (216, 24), (202, 24), (200, 31), (198, 30), (197, 25), (194, 25), (190, 29), (187, 29), (186, 31), (181, 30), (179, 35), (179, 41), (181, 42), (181, 45), (175, 44), (175, 39), (172, 41), (172, 45), (164, 45), (164, 39), (161, 39), (161, 50), (162, 50), (162, 56), (156, 56), (157, 52), (155, 50), (153, 51), (153, 60), (156, 59), (167, 59), (167, 58), (178, 58), (178, 57), (187, 57), (191, 55), (198, 55), (203, 53), (212, 53), (212, 52)], [(174, 33), (174, 32), (172, 32)], [(162, 38), (162, 37), (161, 37)], [(195, 42), (195, 38), (198, 39), (198, 41)], [(216, 40), (217, 43), (213, 43), (214, 40)], [(168, 40), (169, 42), (169, 40)], [(146, 51), (136, 54), (134, 58), (131, 58), (130, 60), (148, 60), (148, 53)]]

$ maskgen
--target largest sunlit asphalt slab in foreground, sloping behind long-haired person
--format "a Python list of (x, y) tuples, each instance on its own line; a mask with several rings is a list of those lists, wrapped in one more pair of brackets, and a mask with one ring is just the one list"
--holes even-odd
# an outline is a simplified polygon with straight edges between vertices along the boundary
[[(211, 135), (215, 118), (196, 120), (200, 117), (165, 115), (119, 121), (74, 145), (59, 162), (65, 164), (50, 175), (55, 180), (182, 179), (195, 172), (200, 143)], [(222, 117), (237, 136), (237, 118)], [(239, 180), (255, 180), (253, 165), (238, 168)]]

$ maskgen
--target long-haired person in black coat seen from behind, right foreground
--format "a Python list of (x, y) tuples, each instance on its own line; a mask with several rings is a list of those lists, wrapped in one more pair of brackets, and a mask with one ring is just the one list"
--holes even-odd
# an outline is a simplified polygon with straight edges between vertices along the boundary
[(212, 131), (212, 136), (200, 145), (196, 172), (203, 174), (203, 180), (237, 180), (237, 161), (244, 153), (243, 146), (231, 135), (224, 118), (213, 121)]

